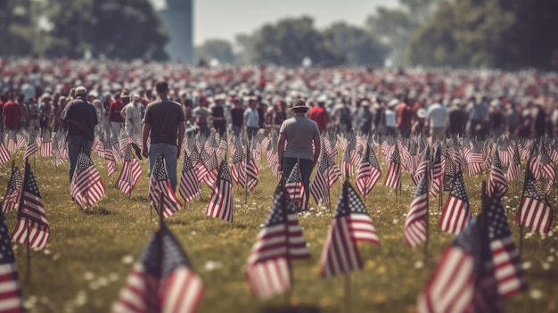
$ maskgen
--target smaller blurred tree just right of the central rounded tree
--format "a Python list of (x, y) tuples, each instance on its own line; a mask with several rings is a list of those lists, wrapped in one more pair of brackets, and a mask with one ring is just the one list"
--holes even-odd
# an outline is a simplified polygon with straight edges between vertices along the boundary
[(372, 33), (345, 22), (332, 24), (324, 30), (324, 37), (332, 51), (346, 56), (346, 65), (382, 66), (389, 51)]

